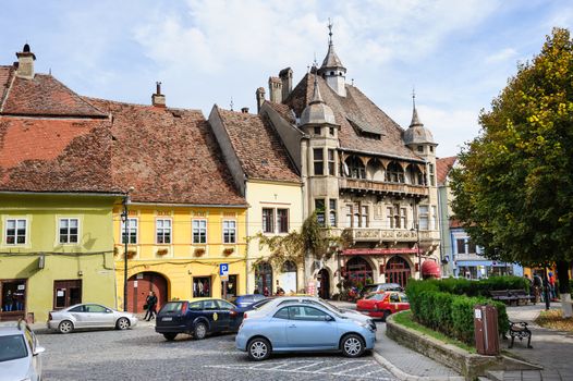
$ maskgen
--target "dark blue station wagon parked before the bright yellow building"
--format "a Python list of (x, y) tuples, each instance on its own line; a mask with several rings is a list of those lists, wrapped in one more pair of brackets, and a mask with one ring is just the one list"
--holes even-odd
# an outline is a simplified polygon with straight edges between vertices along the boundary
[(202, 340), (215, 332), (235, 332), (239, 328), (235, 307), (216, 298), (168, 302), (157, 314), (155, 331), (169, 341), (179, 333)]

